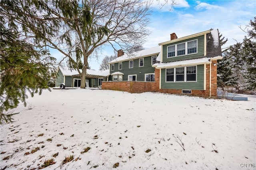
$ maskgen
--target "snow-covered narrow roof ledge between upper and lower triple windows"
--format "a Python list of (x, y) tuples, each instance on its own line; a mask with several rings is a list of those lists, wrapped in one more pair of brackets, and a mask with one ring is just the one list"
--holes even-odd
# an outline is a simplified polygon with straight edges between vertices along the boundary
[(155, 63), (152, 65), (152, 67), (155, 67), (157, 69), (163, 69), (163, 68), (169, 68), (169, 67), (178, 67), (178, 66), (188, 66), (188, 65), (200, 65), (200, 64), (209, 64), (213, 60), (222, 59), (221, 56), (217, 57), (203, 57), (203, 58), (197, 58), (197, 59), (188, 59), (188, 60), (182, 60), (182, 61), (173, 61), (168, 63)]

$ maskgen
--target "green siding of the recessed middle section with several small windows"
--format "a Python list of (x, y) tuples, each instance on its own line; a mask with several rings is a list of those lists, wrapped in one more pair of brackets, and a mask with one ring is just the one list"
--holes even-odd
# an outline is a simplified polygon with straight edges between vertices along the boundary
[[(133, 68), (130, 68), (130, 69), (129, 69), (129, 61), (122, 62), (121, 70), (118, 70), (118, 63), (114, 63), (114, 71), (110, 70), (110, 74), (119, 71), (121, 73), (124, 73), (123, 81), (128, 81), (128, 75), (137, 75), (137, 81), (145, 81), (145, 74), (155, 72), (155, 68), (152, 67), (151, 65), (152, 56), (144, 57), (143, 67), (139, 67), (139, 59), (133, 59)], [(112, 81), (112, 76), (109, 76), (109, 77), (110, 77), (109, 80)]]

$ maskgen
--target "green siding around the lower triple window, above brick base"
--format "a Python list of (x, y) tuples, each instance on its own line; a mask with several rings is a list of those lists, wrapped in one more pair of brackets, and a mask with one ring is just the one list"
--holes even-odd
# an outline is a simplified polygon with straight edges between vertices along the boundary
[(204, 90), (204, 65), (197, 65), (197, 82), (165, 82), (166, 69), (161, 69), (161, 89)]

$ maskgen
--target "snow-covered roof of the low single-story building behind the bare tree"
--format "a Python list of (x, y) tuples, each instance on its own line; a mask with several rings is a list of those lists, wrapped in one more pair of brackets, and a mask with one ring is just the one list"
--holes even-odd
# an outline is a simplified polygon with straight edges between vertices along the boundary
[[(78, 71), (73, 68), (70, 69), (69, 67), (58, 67), (58, 69), (60, 69), (62, 74), (66, 75), (66, 76), (79, 75)], [(57, 72), (58, 72), (58, 69), (57, 69)], [(82, 73), (82, 69), (79, 69), (79, 71)], [(109, 69), (104, 70), (104, 71), (86, 69), (86, 74), (91, 75), (91, 76), (107, 77), (108, 75), (110, 75), (109, 72), (110, 72)]]

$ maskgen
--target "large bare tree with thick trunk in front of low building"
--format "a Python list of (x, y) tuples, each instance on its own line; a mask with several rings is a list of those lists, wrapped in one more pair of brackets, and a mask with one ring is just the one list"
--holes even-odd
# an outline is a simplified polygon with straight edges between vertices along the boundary
[[(111, 45), (116, 51), (129, 51), (134, 44), (145, 42), (149, 31), (150, 5), (142, 0), (84, 0), (56, 1), (58, 10), (51, 13), (62, 21), (58, 34), (48, 38), (49, 46), (57, 49), (78, 70), (79, 60), (84, 67), (81, 88), (85, 88), (88, 57), (97, 57), (102, 45)], [(68, 8), (67, 8), (68, 6)], [(79, 72), (79, 70), (78, 70)]]

